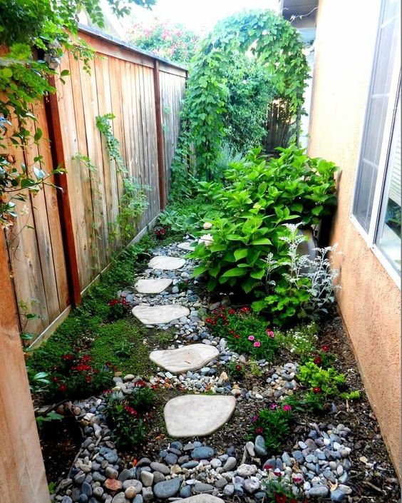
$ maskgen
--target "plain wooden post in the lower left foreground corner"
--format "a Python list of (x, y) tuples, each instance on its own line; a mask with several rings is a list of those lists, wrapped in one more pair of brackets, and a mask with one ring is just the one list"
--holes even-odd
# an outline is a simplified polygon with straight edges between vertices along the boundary
[(0, 278), (0, 500), (50, 503), (2, 231)]

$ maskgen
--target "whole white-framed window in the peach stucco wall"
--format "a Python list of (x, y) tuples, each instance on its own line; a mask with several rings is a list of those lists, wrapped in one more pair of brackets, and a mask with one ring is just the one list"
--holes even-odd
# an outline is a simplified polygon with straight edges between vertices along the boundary
[(394, 278), (401, 274), (399, 0), (383, 0), (354, 193), (353, 216)]

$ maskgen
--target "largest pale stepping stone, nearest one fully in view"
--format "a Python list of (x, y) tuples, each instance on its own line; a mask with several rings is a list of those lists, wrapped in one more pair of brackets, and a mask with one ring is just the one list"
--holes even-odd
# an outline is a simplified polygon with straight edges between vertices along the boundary
[(170, 437), (205, 437), (230, 420), (236, 399), (228, 396), (183, 395), (165, 405)]

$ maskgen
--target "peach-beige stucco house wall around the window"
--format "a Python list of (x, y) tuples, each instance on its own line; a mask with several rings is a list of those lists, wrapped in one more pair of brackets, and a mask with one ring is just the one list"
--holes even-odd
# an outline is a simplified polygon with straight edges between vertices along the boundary
[(401, 474), (400, 290), (351, 223), (378, 0), (320, 0), (309, 155), (341, 168), (332, 242), (339, 243), (339, 306), (366, 392)]

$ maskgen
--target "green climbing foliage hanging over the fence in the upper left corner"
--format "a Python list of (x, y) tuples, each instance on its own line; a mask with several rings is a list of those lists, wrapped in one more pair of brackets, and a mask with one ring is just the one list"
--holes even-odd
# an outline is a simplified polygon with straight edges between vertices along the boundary
[[(130, 3), (151, 6), (155, 0), (108, 0), (118, 16), (128, 14)], [(31, 104), (56, 91), (50, 77), (63, 82), (68, 75), (67, 70), (56, 71), (64, 51), (71, 51), (89, 71), (93, 50), (78, 37), (78, 14), (83, 9), (94, 24), (104, 26), (100, 0), (0, 0), (0, 45), (9, 49), (0, 57), (1, 151), (11, 144), (25, 153), (46, 141)], [(43, 185), (53, 186), (51, 176), (63, 172), (61, 166), (44, 166), (42, 156), (34, 156), (28, 164), (1, 155), (0, 227), (13, 225), (16, 200), (27, 200)]]

